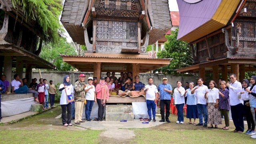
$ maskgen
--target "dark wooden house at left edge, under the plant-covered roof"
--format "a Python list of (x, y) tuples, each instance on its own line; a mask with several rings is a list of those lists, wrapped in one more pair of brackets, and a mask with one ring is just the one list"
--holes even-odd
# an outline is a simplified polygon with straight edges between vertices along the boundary
[[(23, 77), (26, 68), (26, 78), (31, 81), (32, 68), (54, 69), (50, 62), (40, 58), (42, 41), (40, 27), (36, 22), (27, 19), (21, 8), (14, 8), (12, 0), (0, 0), (0, 74), (4, 68), (6, 79), (12, 79), (12, 67), (16, 67), (16, 74)], [(29, 82), (28, 81), (28, 82)]]

